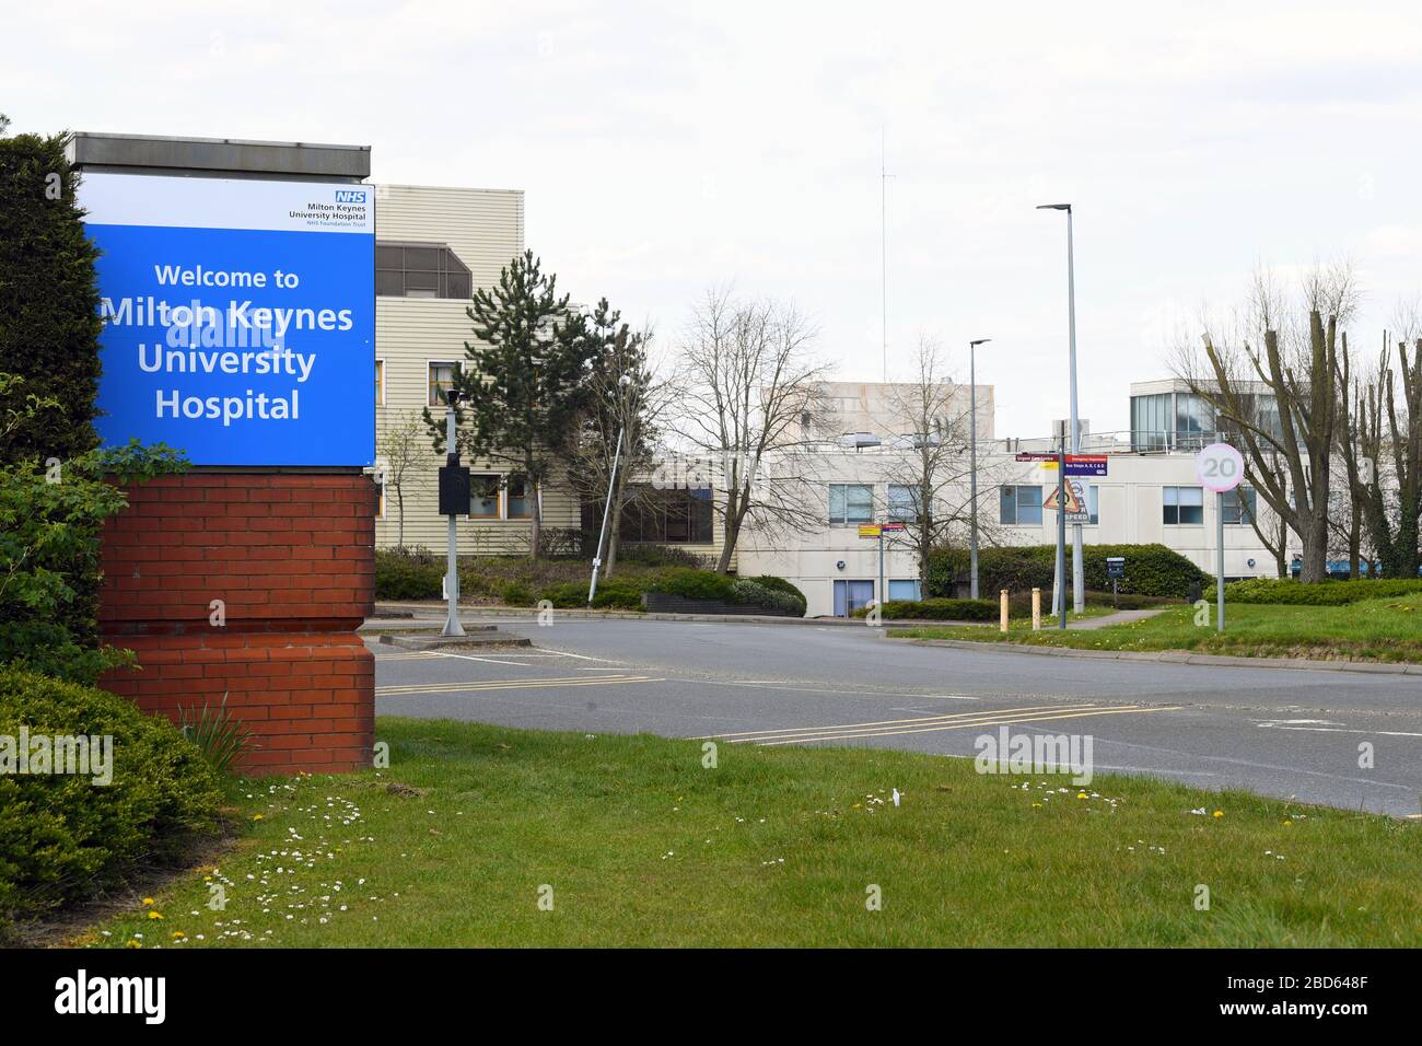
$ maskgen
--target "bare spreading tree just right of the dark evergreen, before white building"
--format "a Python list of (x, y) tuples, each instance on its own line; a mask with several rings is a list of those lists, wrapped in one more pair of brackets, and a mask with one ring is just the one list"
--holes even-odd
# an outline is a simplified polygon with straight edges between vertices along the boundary
[(681, 352), (678, 433), (710, 460), (712, 511), (724, 538), (717, 572), (731, 568), (747, 524), (774, 534), (823, 524), (803, 497), (822, 441), (828, 366), (793, 305), (742, 302), (711, 290)]

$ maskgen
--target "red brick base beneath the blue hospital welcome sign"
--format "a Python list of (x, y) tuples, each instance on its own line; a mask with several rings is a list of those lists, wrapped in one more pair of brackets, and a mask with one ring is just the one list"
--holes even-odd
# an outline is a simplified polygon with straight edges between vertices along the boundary
[[(377, 492), (360, 474), (191, 472), (128, 488), (104, 534), (104, 686), (146, 712), (228, 710), (249, 773), (371, 764)], [(215, 602), (220, 601), (220, 602)], [(220, 623), (219, 623), (220, 622)]]

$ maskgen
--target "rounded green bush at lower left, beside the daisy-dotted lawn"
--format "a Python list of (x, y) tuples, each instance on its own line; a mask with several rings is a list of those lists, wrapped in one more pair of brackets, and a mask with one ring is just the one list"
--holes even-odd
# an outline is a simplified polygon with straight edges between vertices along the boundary
[(112, 781), (0, 774), (0, 936), (16, 919), (181, 861), (218, 827), (218, 773), (172, 723), (124, 697), (0, 669), (0, 736), (111, 736)]

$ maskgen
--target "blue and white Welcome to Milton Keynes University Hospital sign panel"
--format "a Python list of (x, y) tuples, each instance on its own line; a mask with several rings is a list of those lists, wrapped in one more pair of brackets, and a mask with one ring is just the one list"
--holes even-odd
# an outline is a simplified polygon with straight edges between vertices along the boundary
[(105, 445), (196, 465), (370, 465), (370, 185), (87, 174)]

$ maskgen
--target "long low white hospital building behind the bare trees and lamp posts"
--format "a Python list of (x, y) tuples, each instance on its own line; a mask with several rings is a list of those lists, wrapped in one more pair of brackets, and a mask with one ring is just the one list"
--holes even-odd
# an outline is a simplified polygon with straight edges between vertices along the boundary
[[(860, 537), (860, 524), (906, 518), (913, 511), (912, 490), (904, 480), (910, 451), (904, 433), (892, 431), (883, 416), (866, 416), (862, 404), (883, 401), (873, 386), (856, 386), (855, 410), (846, 413), (848, 433), (859, 448), (842, 443), (818, 455), (813, 478), (806, 480), (805, 497), (823, 505), (823, 524), (799, 532), (781, 528), (774, 535), (752, 528), (742, 535), (738, 569), (744, 576), (774, 574), (805, 592), (809, 616), (843, 616), (870, 599), (913, 599), (920, 593), (917, 556), (902, 539), (884, 542), (880, 582), (880, 542)], [(966, 393), (963, 400), (966, 401)], [(1169, 424), (1136, 426), (1132, 440), (1084, 438), (1084, 454), (1106, 457), (1105, 477), (1084, 480), (1091, 522), (1082, 528), (1084, 542), (1162, 544), (1202, 569), (1216, 569), (1217, 498), (1207, 494), (1194, 472), (1194, 450), (1212, 443), (1214, 434), (1200, 424), (1194, 397), (1173, 381), (1132, 386), (1133, 418)], [(1042, 508), (1057, 488), (1055, 468), (1017, 461), (1021, 451), (1047, 451), (1051, 438), (994, 440), (993, 390), (978, 389), (978, 519), (981, 544), (1049, 545), (1057, 541), (1057, 514)], [(984, 418), (984, 411), (988, 417)], [(1159, 414), (1159, 418), (1156, 417)], [(1177, 420), (1180, 426), (1177, 427)], [(987, 433), (988, 438), (983, 438)], [(866, 440), (865, 434), (872, 434)], [(896, 438), (897, 437), (897, 438)], [(867, 445), (865, 445), (867, 444)], [(967, 478), (944, 491), (950, 508), (967, 505)], [(1241, 504), (1244, 511), (1241, 512)], [(1226, 578), (1276, 576), (1273, 555), (1249, 522), (1250, 512), (1264, 511), (1254, 491), (1241, 488), (1226, 495)], [(966, 529), (961, 531), (966, 539)], [(1069, 535), (1068, 535), (1069, 541)], [(1129, 569), (1129, 568), (1128, 568)]]

